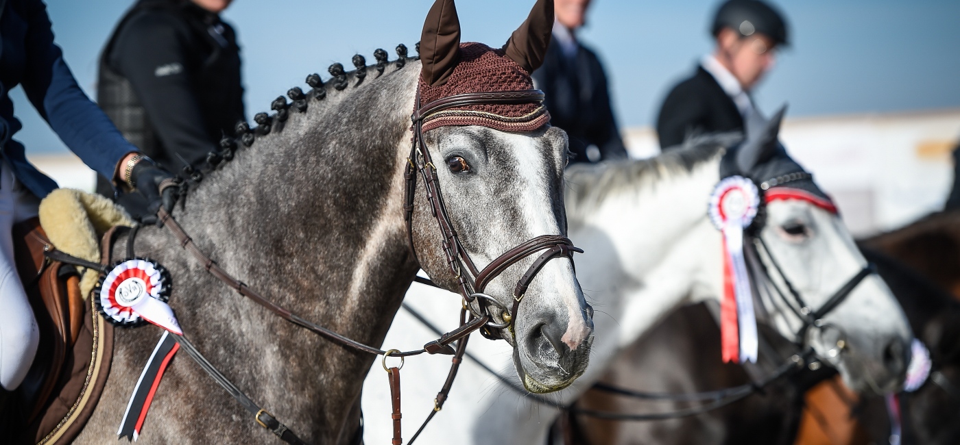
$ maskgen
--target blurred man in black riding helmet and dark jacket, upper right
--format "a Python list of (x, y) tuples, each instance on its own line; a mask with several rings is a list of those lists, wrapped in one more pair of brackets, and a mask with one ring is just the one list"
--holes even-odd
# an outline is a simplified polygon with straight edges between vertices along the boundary
[(710, 33), (716, 39), (713, 54), (693, 77), (674, 86), (660, 107), (660, 149), (678, 146), (692, 134), (742, 131), (756, 106), (751, 91), (788, 43), (780, 12), (758, 0), (724, 3)]

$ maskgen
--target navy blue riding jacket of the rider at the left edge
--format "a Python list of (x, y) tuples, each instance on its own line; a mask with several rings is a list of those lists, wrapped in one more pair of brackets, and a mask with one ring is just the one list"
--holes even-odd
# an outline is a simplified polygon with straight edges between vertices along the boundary
[(0, 153), (13, 175), (37, 198), (57, 188), (27, 162), (23, 145), (12, 139), (21, 125), (13, 117), (10, 90), (22, 84), (60, 140), (91, 169), (113, 177), (120, 159), (136, 147), (77, 85), (54, 43), (46, 5), (40, 0), (0, 0), (0, 14)]

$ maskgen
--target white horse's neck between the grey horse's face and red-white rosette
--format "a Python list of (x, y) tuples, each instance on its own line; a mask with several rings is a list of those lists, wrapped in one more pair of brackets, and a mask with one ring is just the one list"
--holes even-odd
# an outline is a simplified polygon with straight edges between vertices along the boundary
[(594, 319), (598, 342), (609, 343), (594, 346), (594, 368), (603, 367), (596, 365), (603, 363), (602, 351), (615, 354), (678, 305), (720, 294), (721, 236), (707, 215), (719, 154), (689, 168), (664, 167), (667, 156), (683, 154), (633, 161), (653, 166), (597, 202), (586, 218), (571, 218), (571, 238), (591, 257), (578, 262), (578, 279), (594, 291), (596, 309), (616, 318)]

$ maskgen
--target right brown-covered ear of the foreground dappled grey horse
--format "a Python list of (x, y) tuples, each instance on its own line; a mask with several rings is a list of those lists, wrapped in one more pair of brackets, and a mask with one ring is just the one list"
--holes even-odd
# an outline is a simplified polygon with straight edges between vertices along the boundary
[(553, 20), (553, 0), (537, 0), (530, 16), (503, 45), (507, 57), (528, 73), (540, 68), (553, 35)]

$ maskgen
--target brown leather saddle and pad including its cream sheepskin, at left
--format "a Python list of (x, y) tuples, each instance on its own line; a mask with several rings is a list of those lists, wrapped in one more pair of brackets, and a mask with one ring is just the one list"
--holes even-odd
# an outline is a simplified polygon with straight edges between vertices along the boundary
[(45, 253), (57, 249), (108, 264), (109, 250), (100, 240), (132, 224), (109, 199), (58, 189), (40, 202), (38, 218), (13, 227), (17, 272), (40, 342), (27, 378), (0, 403), (0, 436), (10, 438), (7, 443), (72, 442), (97, 406), (113, 356), (113, 325), (90, 297), (99, 271), (52, 261)]

